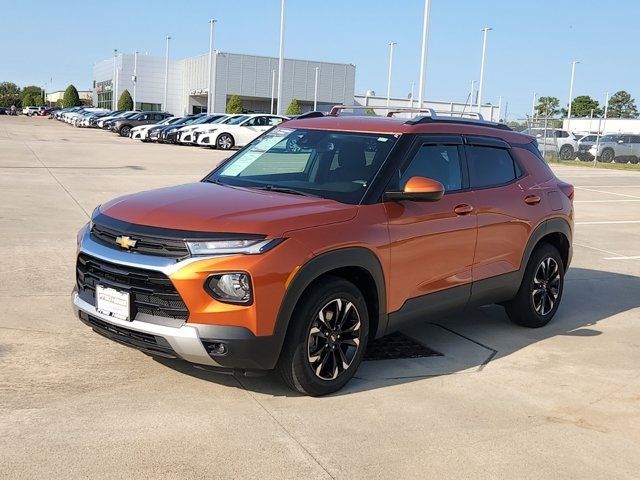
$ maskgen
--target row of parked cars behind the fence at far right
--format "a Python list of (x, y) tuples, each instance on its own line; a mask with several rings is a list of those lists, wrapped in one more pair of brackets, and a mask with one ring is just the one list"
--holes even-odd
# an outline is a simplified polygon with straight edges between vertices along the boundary
[(570, 132), (568, 130), (531, 128), (525, 134), (536, 137), (541, 152), (555, 151), (561, 160), (597, 159), (603, 163), (638, 163), (640, 161), (640, 135)]

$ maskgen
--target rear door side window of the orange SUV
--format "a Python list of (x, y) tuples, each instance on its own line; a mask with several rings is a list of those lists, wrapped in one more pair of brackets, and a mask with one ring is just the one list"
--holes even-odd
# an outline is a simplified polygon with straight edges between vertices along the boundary
[(507, 150), (468, 145), (466, 151), (472, 188), (502, 185), (517, 177), (516, 165)]

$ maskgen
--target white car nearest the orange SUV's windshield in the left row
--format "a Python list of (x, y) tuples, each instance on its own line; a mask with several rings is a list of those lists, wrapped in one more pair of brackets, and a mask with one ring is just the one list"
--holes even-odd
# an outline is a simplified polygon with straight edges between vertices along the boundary
[(198, 136), (197, 145), (229, 150), (243, 147), (288, 117), (269, 114), (238, 115), (224, 124), (212, 124)]

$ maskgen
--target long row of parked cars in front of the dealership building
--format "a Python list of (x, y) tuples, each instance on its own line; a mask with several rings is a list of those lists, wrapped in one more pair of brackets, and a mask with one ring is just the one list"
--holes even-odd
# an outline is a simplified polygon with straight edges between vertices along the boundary
[(111, 111), (74, 107), (56, 112), (78, 128), (101, 128), (142, 142), (174, 143), (229, 150), (242, 147), (289, 117), (270, 114), (172, 116), (166, 112)]

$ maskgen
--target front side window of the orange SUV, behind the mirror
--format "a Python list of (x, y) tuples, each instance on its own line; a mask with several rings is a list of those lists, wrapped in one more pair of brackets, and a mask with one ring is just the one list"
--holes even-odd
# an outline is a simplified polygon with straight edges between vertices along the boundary
[(462, 188), (460, 154), (456, 145), (424, 144), (400, 172), (400, 189), (411, 177), (438, 180), (446, 192)]

